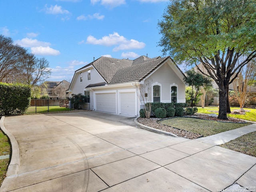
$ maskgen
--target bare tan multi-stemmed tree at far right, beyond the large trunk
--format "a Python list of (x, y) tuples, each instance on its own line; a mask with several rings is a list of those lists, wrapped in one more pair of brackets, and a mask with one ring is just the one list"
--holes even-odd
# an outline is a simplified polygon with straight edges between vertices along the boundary
[[(238, 60), (238, 62), (242, 62), (241, 59)], [(240, 73), (237, 75), (236, 80), (233, 81), (234, 92), (240, 104), (240, 109), (244, 108), (244, 103), (248, 95), (248, 83), (254, 75), (253, 70), (255, 69), (255, 67), (255, 60), (251, 60), (241, 69)]]

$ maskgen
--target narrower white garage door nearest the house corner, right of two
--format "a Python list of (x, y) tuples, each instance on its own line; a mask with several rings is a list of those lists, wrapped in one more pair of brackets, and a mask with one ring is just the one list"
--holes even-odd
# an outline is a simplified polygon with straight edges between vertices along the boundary
[(135, 92), (120, 93), (120, 114), (135, 116)]

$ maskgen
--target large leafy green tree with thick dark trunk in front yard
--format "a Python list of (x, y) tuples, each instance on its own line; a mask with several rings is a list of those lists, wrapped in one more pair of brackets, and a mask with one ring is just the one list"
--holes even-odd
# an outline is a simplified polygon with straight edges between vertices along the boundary
[(228, 85), (256, 57), (255, 10), (255, 0), (173, 0), (158, 22), (163, 54), (178, 64), (202, 63), (218, 85), (220, 119), (227, 119)]

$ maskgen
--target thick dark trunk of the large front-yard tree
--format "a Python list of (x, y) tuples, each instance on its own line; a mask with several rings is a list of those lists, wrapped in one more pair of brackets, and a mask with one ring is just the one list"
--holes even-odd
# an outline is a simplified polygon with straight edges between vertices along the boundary
[(219, 85), (220, 107), (218, 119), (228, 119), (227, 117), (227, 92), (224, 85)]

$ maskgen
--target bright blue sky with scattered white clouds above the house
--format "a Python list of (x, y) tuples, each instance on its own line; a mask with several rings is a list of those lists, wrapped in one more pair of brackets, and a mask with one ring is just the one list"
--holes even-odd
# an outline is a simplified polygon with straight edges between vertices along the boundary
[(101, 56), (162, 56), (157, 23), (169, 0), (6, 0), (0, 33), (52, 68), (48, 80), (71, 81)]

